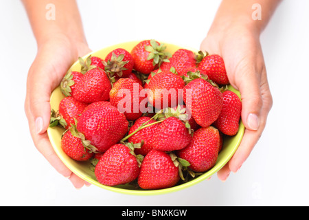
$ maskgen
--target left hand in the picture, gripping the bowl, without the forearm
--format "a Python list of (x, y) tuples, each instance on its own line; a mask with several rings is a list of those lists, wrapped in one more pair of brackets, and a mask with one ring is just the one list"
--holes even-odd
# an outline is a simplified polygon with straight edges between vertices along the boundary
[(89, 52), (91, 50), (83, 41), (71, 41), (62, 34), (53, 36), (52, 39), (38, 45), (36, 58), (27, 77), (25, 113), (34, 145), (58, 173), (68, 177), (76, 188), (90, 184), (80, 179), (62, 163), (49, 142), (46, 132), (51, 112), (49, 99), (71, 64), (78, 59), (78, 56), (84, 56)]

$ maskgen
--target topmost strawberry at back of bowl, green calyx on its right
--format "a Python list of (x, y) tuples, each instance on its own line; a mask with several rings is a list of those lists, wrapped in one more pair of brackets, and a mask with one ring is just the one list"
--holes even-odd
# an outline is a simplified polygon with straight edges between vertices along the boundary
[(155, 40), (140, 41), (133, 47), (134, 69), (141, 74), (150, 74), (158, 69), (163, 62), (169, 62), (171, 55), (165, 52), (166, 46)]

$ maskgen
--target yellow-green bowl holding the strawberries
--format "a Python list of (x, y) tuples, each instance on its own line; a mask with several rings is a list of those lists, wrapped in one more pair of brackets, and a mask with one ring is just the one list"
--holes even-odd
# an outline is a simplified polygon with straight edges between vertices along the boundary
[[(106, 47), (102, 50), (98, 50), (96, 52), (92, 52), (92, 56), (98, 56), (100, 58), (105, 58), (105, 56), (111, 52), (114, 49), (117, 48), (124, 48), (125, 50), (128, 50), (130, 52), (135, 45), (137, 45), (138, 41), (132, 41), (132, 42), (127, 42), (127, 43), (120, 43), (118, 45), (113, 45), (111, 47)], [(180, 48), (187, 48), (187, 47), (180, 47), (177, 45), (172, 45), (170, 43), (165, 43), (167, 45), (166, 50), (173, 54), (176, 52), (176, 50)], [(192, 50), (187, 48), (188, 50)], [(196, 52), (196, 50), (192, 50)], [(87, 58), (90, 54), (87, 54), (83, 58)], [(80, 71), (80, 64), (78, 61), (74, 63), (69, 71)], [(239, 92), (236, 91), (236, 89), (233, 89), (233, 87), (229, 86), (229, 89), (231, 91), (236, 92), (238, 96), (240, 96)], [(51, 96), (50, 104), (52, 109), (57, 110), (60, 100), (62, 98), (65, 98), (65, 96), (62, 95), (60, 88), (56, 88)], [(49, 128), (47, 130), (47, 133), (49, 135), (49, 140), (52, 143), (52, 146), (54, 148), (54, 151), (56, 151), (56, 154), (62, 162), (76, 175), (78, 175), (80, 178), (84, 179), (85, 181), (88, 181), (90, 184), (93, 184), (95, 186), (98, 186), (100, 188), (104, 188), (106, 190), (111, 190), (113, 192), (119, 192), (119, 193), (124, 193), (128, 195), (159, 195), (163, 193), (168, 193), (168, 192), (175, 192), (177, 190), (182, 190), (184, 188), (193, 186), (194, 184), (197, 184), (205, 179), (208, 179), (211, 177), (211, 175), (214, 175), (220, 168), (225, 166), (227, 162), (229, 162), (229, 159), (233, 156), (233, 154), (236, 152), (238, 146), (240, 145), (240, 142), (242, 140), (242, 136), (244, 134), (244, 125), (240, 121), (240, 126), (239, 126), (239, 131), (236, 135), (233, 137), (225, 137), (224, 140), (224, 145), (222, 147), (222, 151), (220, 151), (218, 160), (216, 162), (216, 165), (208, 170), (206, 173), (203, 173), (203, 175), (200, 175), (196, 177), (195, 179), (192, 179), (190, 181), (187, 181), (186, 183), (174, 186), (172, 188), (165, 188), (165, 189), (160, 189), (160, 190), (142, 190), (142, 189), (136, 189), (133, 188), (133, 186), (128, 186), (128, 185), (119, 185), (119, 186), (104, 186), (98, 182), (98, 180), (95, 178), (95, 174), (93, 172), (93, 166), (91, 165), (90, 162), (77, 162), (70, 157), (68, 157), (61, 148), (61, 135), (64, 132), (64, 129), (61, 129), (60, 127), (55, 127), (55, 128)], [(91, 169), (92, 166), (92, 169)]]

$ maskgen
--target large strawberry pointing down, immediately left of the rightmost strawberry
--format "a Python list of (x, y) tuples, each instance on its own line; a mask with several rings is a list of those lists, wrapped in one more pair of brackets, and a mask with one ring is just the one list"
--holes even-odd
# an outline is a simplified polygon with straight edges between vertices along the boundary
[(203, 78), (196, 78), (185, 85), (183, 100), (196, 123), (203, 127), (217, 120), (223, 105), (221, 91)]

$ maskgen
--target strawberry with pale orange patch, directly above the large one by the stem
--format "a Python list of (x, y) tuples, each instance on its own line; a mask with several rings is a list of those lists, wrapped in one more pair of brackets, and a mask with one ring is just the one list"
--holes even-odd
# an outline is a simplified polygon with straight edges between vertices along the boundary
[(139, 104), (142, 98), (139, 96), (143, 87), (130, 78), (119, 78), (109, 94), (111, 104), (126, 115), (127, 120), (136, 120), (142, 112)]

